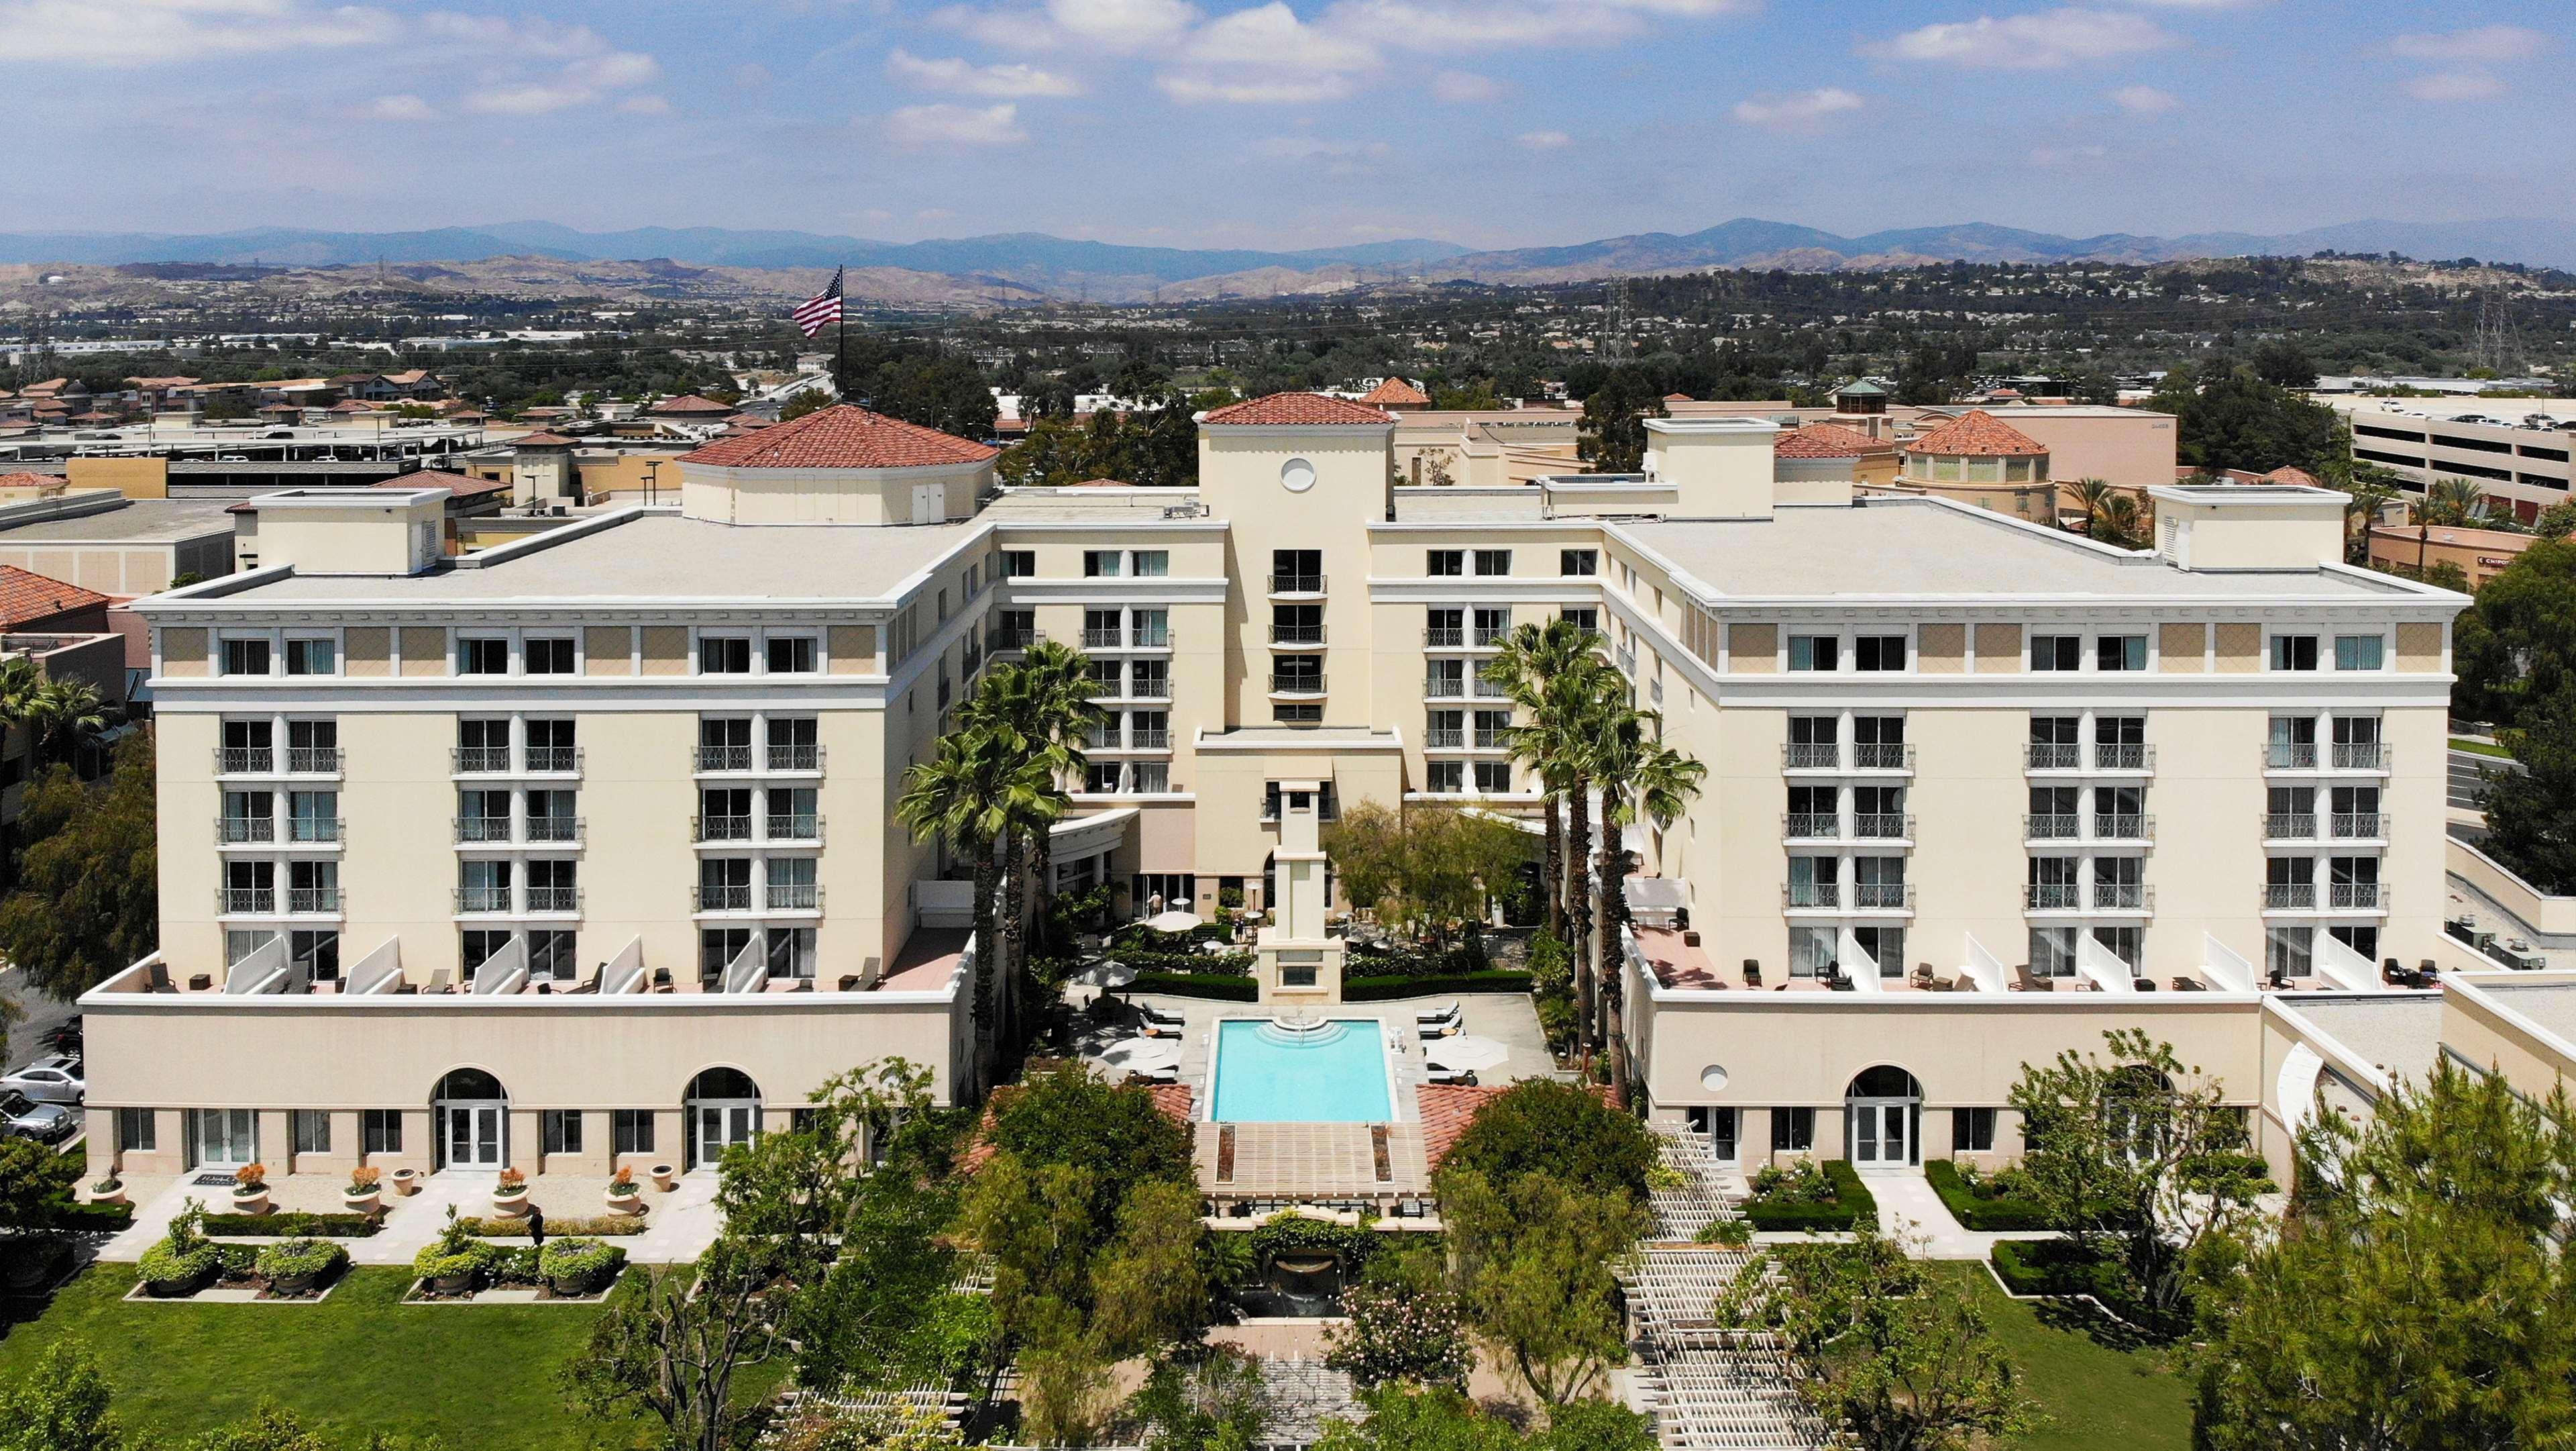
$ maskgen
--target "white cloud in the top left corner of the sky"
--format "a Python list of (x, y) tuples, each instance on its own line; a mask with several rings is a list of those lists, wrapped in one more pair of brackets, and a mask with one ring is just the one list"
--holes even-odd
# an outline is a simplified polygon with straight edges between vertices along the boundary
[(0, 0), (0, 64), (162, 64), (386, 44), (402, 23), (301, 0)]

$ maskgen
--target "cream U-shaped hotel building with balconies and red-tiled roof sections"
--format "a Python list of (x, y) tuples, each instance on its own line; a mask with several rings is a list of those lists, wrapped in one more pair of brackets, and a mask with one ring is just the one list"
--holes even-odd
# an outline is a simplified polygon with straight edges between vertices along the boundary
[(1280, 394), (1203, 418), (1195, 490), (997, 490), (832, 407), (464, 559), (440, 490), (263, 495), (255, 570), (139, 606), (162, 948), (82, 1000), (93, 1165), (688, 1165), (884, 1054), (974, 1095), (966, 871), (891, 807), (1041, 637), (1105, 711), (1056, 884), (1211, 912), (1273, 899), (1280, 783), (1533, 817), (1479, 670), (1602, 631), (1710, 768), (1610, 972), (1651, 1111), (1736, 1162), (2009, 1157), (2020, 1064), (2117, 1026), (2254, 1113), (2267, 1003), (2476, 966), (2465, 601), (2344, 567), (2339, 495), (2159, 487), (2123, 552), (1649, 430), (1643, 474), (1414, 487), (1394, 418)]

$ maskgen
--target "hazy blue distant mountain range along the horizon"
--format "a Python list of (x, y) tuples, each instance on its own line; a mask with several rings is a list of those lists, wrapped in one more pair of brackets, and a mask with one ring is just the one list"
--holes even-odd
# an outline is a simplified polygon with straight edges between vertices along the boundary
[[(2545, 219), (2496, 222), (2347, 222), (2262, 237), (2200, 232), (2190, 237), (2061, 237), (1984, 222), (1906, 227), (1839, 237), (1790, 222), (1739, 216), (1705, 232), (1641, 232), (1569, 247), (1476, 253), (1455, 242), (1401, 240), (1301, 253), (1126, 247), (1043, 232), (1002, 232), (935, 242), (871, 242), (817, 232), (737, 232), (726, 227), (639, 227), (577, 232), (551, 222), (438, 227), (428, 232), (317, 232), (258, 227), (247, 232), (15, 232), (0, 235), (0, 263), (270, 263), (296, 268), (374, 263), (477, 263), (546, 258), (559, 263), (675, 260), (706, 268), (902, 268), (981, 286), (1010, 283), (1051, 299), (1139, 302), (1151, 296), (1273, 296), (1378, 283), (1551, 283), (1607, 276), (1654, 276), (1700, 268), (1852, 271), (1942, 260), (1973, 263), (2172, 263), (2190, 258), (2401, 253), (2409, 258), (2478, 258), (2576, 268), (2576, 224)], [(853, 289), (855, 291), (855, 289)]]

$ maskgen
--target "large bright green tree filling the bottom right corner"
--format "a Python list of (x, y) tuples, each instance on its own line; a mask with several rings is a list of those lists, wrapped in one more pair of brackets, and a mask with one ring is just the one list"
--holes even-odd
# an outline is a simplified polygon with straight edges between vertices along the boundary
[(2563, 1090), (2437, 1062), (2367, 1126), (2313, 1126), (2280, 1229), (2208, 1255), (2195, 1446), (2576, 1446), (2568, 1124)]

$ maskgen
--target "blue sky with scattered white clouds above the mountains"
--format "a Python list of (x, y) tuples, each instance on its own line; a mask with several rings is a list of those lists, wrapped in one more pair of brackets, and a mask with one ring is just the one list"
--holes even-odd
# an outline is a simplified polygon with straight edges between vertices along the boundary
[(2568, 0), (0, 0), (0, 229), (2576, 219)]

